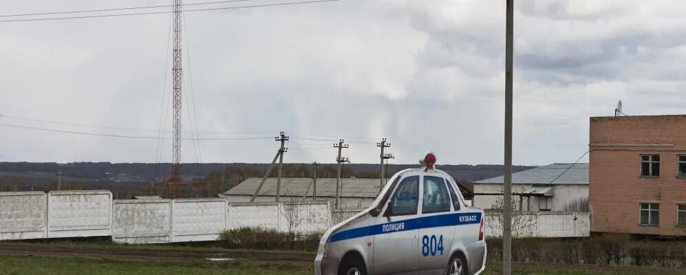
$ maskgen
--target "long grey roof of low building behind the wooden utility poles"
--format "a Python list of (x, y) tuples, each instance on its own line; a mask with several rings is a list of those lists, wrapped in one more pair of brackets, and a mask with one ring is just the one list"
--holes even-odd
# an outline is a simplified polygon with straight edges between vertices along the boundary
[[(224, 192), (224, 195), (253, 195), (259, 182), (260, 177), (250, 177)], [(360, 178), (342, 178), (341, 179), (341, 197), (363, 197), (376, 198), (378, 195), (379, 179), (360, 179)], [(264, 185), (259, 190), (260, 196), (276, 196), (277, 194), (277, 178), (269, 177), (264, 181)], [(310, 177), (282, 177), (281, 178), (281, 196), (287, 197), (303, 197), (312, 196), (312, 178)], [(317, 179), (317, 197), (336, 197), (336, 178), (318, 178)]]

